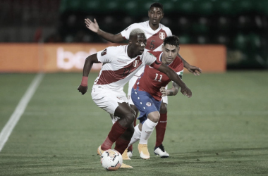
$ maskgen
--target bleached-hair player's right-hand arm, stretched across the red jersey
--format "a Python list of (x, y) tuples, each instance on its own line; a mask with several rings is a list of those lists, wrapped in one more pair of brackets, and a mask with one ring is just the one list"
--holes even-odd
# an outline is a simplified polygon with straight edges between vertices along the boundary
[(169, 79), (173, 80), (173, 82), (176, 82), (176, 84), (178, 84), (178, 86), (181, 87), (181, 94), (183, 95), (187, 95), (188, 98), (190, 98), (192, 96), (192, 92), (190, 91), (190, 89), (186, 86), (186, 84), (183, 82), (183, 80), (181, 80), (181, 77), (179, 77), (174, 70), (172, 70), (171, 68), (169, 68), (168, 66), (166, 66), (164, 63), (161, 63), (161, 65), (157, 65), (159, 63), (152, 63), (152, 67), (159, 70), (162, 73), (165, 73)]

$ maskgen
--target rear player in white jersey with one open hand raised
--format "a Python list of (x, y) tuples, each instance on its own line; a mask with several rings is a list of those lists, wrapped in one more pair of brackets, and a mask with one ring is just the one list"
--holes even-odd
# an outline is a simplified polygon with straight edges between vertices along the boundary
[[(99, 36), (103, 37), (104, 39), (108, 40), (109, 42), (123, 42), (125, 39), (128, 39), (129, 33), (132, 29), (138, 27), (145, 31), (147, 37), (147, 46), (145, 49), (150, 51), (162, 51), (162, 44), (165, 37), (171, 36), (171, 30), (169, 27), (166, 27), (160, 23), (162, 18), (164, 17), (163, 6), (160, 3), (153, 3), (151, 4), (149, 11), (148, 11), (149, 20), (142, 22), (142, 23), (134, 23), (123, 30), (121, 33), (118, 34), (110, 34), (108, 32), (104, 32), (103, 30), (99, 29), (99, 25), (97, 24), (97, 20), (94, 19), (92, 22), (90, 19), (85, 19), (85, 23), (88, 29), (92, 30), (92, 32), (96, 32)], [(178, 55), (181, 60), (183, 61), (183, 65), (187, 68), (190, 73), (194, 75), (199, 75), (202, 73), (200, 68), (197, 68), (193, 65), (187, 63), (180, 55)], [(138, 73), (134, 75), (134, 77), (130, 80), (128, 84), (128, 103), (130, 103), (131, 108), (134, 109), (136, 114), (138, 115), (138, 108), (135, 107), (133, 101), (131, 100), (130, 94), (133, 84), (136, 82), (138, 77), (141, 73), (143, 73), (144, 68), (141, 68)], [(199, 73), (198, 73), (199, 72)], [(169, 89), (172, 91), (175, 87)], [(166, 87), (167, 89), (167, 87)], [(157, 132), (157, 140), (154, 147), (154, 152), (159, 156), (169, 156), (162, 145), (164, 141), (164, 134), (166, 132), (166, 123), (167, 123), (167, 97), (164, 96), (162, 99), (162, 104), (160, 106), (160, 120), (156, 127)], [(135, 121), (134, 121), (135, 125)], [(128, 148), (130, 151), (128, 152), (128, 156), (132, 156), (132, 146)]]

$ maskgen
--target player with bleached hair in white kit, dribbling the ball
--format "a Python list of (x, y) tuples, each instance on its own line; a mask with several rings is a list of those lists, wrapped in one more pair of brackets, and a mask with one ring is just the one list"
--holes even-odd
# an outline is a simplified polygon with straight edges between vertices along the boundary
[[(143, 65), (150, 65), (176, 82), (181, 87), (181, 93), (189, 98), (192, 92), (181, 78), (171, 68), (157, 61), (157, 58), (145, 51), (147, 39), (145, 32), (134, 29), (130, 32), (128, 45), (110, 46), (103, 51), (88, 56), (83, 68), (83, 78), (78, 91), (81, 94), (87, 92), (87, 79), (93, 63), (103, 63), (99, 76), (92, 87), (92, 99), (110, 115), (118, 117), (118, 120), (111, 127), (111, 130), (97, 149), (97, 153), (102, 155), (103, 151), (115, 148), (119, 153), (123, 153), (128, 147), (134, 133), (133, 121), (135, 111), (128, 105), (123, 86), (130, 80)], [(130, 165), (122, 165), (122, 168), (131, 168)]]

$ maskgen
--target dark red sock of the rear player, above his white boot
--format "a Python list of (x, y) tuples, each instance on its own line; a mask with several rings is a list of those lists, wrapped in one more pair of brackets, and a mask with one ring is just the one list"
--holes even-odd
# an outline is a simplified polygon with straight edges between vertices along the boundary
[(157, 131), (157, 142), (155, 146), (160, 146), (164, 141), (164, 136), (166, 132), (166, 122), (167, 122), (167, 113), (160, 113), (160, 119), (157, 126), (155, 127)]

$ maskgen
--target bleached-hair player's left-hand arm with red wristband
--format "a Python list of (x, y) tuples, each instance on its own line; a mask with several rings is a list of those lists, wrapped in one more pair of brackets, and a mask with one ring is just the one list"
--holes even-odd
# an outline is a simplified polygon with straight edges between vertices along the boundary
[(87, 78), (88, 74), (90, 74), (93, 63), (99, 63), (97, 54), (92, 54), (85, 59), (82, 82), (78, 87), (78, 91), (81, 92), (81, 94), (85, 94), (87, 92)]

